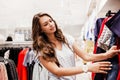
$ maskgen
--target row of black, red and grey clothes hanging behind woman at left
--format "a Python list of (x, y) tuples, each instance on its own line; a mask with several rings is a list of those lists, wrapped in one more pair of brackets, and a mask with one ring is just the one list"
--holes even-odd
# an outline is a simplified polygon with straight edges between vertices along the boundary
[[(22, 47), (13, 47), (13, 46), (3, 47), (0, 49), (0, 56), (1, 56), (0, 62), (5, 63), (6, 76), (8, 77), (7, 79), (3, 79), (3, 80), (38, 80), (38, 79), (47, 80), (48, 79), (48, 71), (43, 66), (41, 66), (37, 57), (35, 56), (34, 51), (31, 48), (22, 48)], [(11, 59), (12, 61), (9, 59)], [(8, 62), (12, 62), (12, 63), (8, 64)], [(12, 70), (13, 69), (12, 67), (15, 70)], [(4, 76), (2, 76), (0, 80), (2, 80)]]

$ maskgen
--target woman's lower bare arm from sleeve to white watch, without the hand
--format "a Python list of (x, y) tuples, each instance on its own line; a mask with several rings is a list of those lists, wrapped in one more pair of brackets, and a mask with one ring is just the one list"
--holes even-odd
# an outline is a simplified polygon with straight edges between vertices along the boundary
[(58, 67), (55, 62), (50, 62), (50, 61), (48, 62), (44, 60), (42, 57), (39, 57), (39, 60), (48, 71), (50, 71), (51, 73), (55, 74), (58, 77), (70, 76), (83, 72), (81, 67), (62, 68), (62, 67)]

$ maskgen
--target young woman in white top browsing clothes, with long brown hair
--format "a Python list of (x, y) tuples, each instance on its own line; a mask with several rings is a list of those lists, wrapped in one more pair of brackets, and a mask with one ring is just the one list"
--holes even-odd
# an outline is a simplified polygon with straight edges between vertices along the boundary
[(73, 37), (62, 33), (55, 20), (47, 13), (38, 13), (33, 17), (32, 38), (33, 49), (39, 55), (39, 61), (49, 71), (49, 80), (75, 80), (76, 74), (107, 73), (111, 69), (111, 63), (105, 61), (76, 67), (75, 53), (85, 61), (99, 61), (120, 52), (113, 46), (104, 54), (85, 53), (79, 49)]

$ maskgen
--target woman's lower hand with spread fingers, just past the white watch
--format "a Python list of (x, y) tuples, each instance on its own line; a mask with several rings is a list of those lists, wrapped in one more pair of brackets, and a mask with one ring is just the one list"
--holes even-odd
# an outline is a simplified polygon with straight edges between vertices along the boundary
[(107, 74), (107, 71), (111, 70), (111, 66), (112, 64), (108, 61), (95, 62), (88, 65), (88, 71)]

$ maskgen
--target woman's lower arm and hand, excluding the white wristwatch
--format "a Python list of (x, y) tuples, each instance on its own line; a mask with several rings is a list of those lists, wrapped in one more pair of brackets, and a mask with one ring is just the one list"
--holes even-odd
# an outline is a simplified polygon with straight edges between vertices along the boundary
[[(84, 72), (82, 66), (63, 68), (58, 67), (54, 62), (50, 61), (48, 62), (44, 60), (41, 56), (39, 57), (39, 60), (48, 71), (50, 71), (51, 73), (55, 74), (58, 77), (70, 76)], [(107, 70), (111, 69), (109, 68), (110, 66), (111, 66), (110, 62), (96, 62), (87, 66), (88, 69), (87, 72), (107, 73)]]

